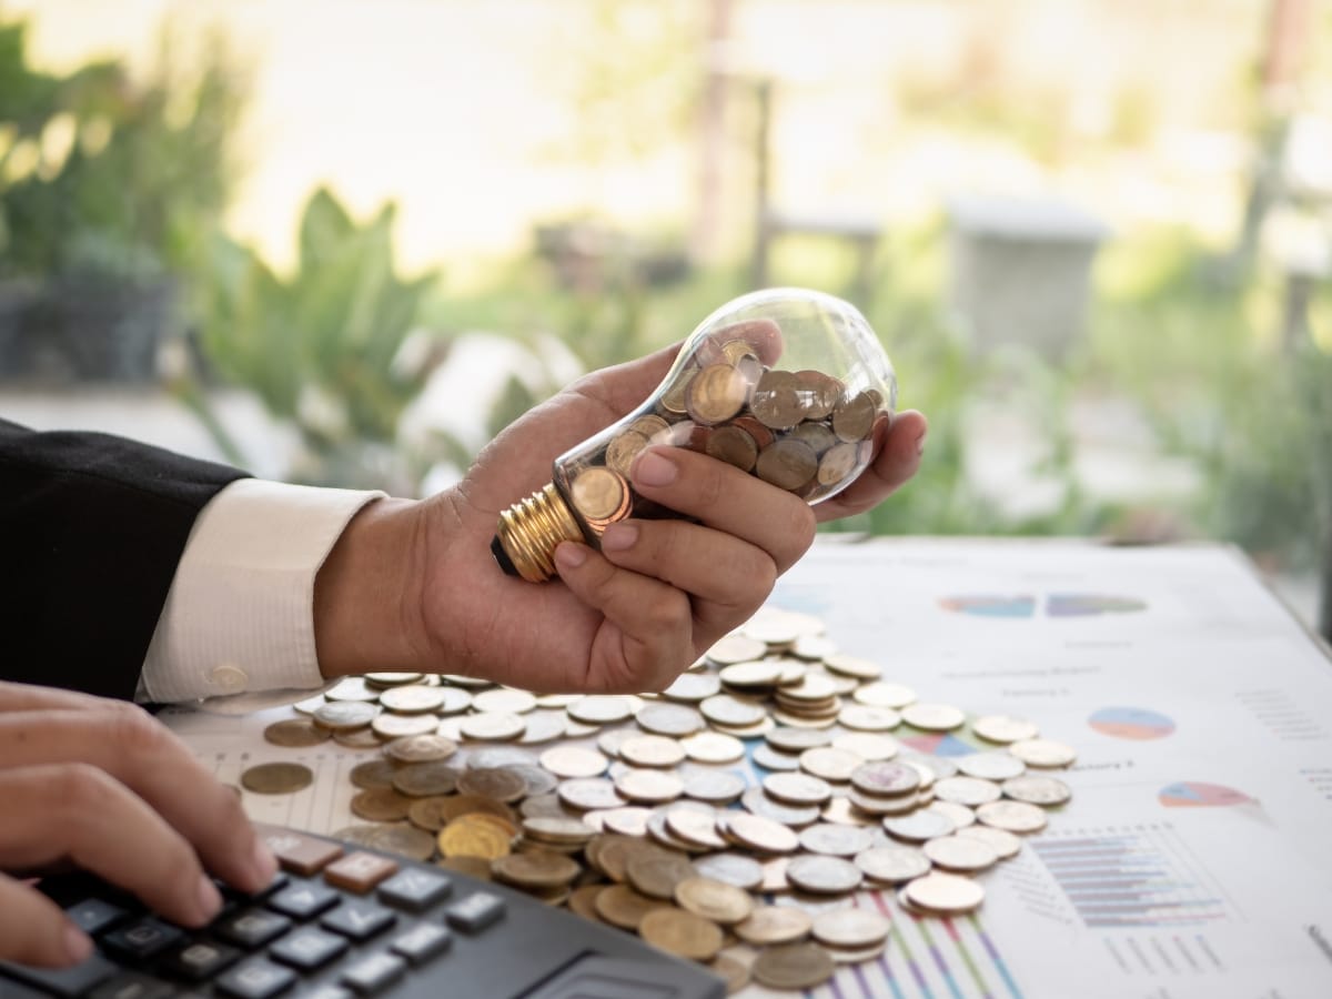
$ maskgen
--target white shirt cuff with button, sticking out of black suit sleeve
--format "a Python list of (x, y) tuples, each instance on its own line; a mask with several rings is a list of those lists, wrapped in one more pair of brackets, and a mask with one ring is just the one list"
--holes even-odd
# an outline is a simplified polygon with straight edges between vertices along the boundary
[(152, 701), (321, 686), (314, 575), (377, 492), (242, 478), (200, 511), (144, 661)]

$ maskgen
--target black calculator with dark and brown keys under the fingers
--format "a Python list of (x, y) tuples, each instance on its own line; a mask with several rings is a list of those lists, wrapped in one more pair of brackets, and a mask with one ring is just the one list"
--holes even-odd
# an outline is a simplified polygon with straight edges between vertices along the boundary
[(721, 999), (705, 968), (465, 874), (261, 827), (282, 870), (218, 886), (201, 930), (159, 919), (88, 874), (44, 879), (97, 947), (72, 968), (0, 962), (3, 999)]

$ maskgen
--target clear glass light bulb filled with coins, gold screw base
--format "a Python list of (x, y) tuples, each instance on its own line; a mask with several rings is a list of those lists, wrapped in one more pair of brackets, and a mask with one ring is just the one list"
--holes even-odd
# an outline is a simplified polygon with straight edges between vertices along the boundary
[(817, 503), (870, 464), (898, 382), (864, 317), (821, 292), (735, 298), (689, 336), (638, 409), (555, 460), (551, 481), (500, 514), (490, 545), (510, 575), (555, 574), (561, 541), (599, 547), (626, 517), (678, 517), (629, 485), (649, 445), (702, 452)]

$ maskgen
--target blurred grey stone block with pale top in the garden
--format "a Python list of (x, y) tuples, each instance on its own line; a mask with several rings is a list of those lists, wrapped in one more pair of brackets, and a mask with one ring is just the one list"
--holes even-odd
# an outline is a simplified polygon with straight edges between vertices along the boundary
[(1082, 333), (1091, 266), (1110, 229), (1052, 197), (967, 196), (947, 210), (951, 305), (975, 345), (1063, 360)]

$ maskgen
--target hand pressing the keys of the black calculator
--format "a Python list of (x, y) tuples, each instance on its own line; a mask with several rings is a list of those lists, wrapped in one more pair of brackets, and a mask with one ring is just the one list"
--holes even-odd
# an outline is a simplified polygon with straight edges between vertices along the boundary
[[(244, 891), (277, 870), (237, 797), (120, 701), (0, 683), (0, 871), (73, 863), (182, 926), (202, 926), (221, 907), (204, 866)], [(0, 958), (63, 966), (91, 952), (53, 902), (0, 874)]]

